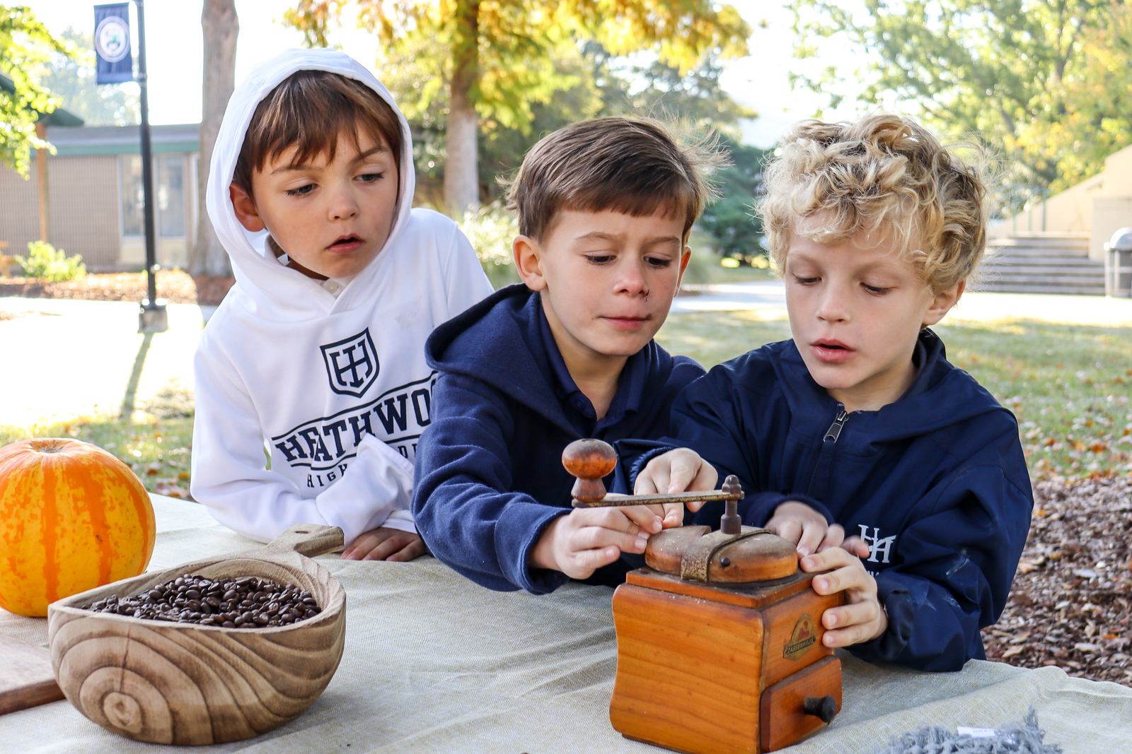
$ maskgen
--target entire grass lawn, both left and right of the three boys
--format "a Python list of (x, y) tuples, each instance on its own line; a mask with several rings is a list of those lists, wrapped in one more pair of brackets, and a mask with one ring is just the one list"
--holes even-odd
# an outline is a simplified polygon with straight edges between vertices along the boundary
[[(1018, 415), (1036, 480), (1132, 475), (1132, 327), (1010, 321), (936, 330), (951, 361)], [(766, 321), (757, 312), (696, 312), (672, 314), (658, 339), (670, 352), (712, 366), (789, 337), (786, 321)], [(0, 426), (0, 444), (27, 436), (78, 437), (125, 460), (148, 489), (187, 497), (192, 439), (188, 397), (164, 396), (140, 408), (126, 419)]]

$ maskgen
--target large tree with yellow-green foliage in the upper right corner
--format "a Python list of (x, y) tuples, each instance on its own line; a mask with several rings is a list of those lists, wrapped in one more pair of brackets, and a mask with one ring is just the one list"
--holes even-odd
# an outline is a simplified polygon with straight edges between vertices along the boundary
[[(843, 35), (868, 50), (871, 104), (915, 103), (925, 120), (1005, 161), (1003, 182), (1067, 188), (1132, 140), (1132, 10), (1097, 0), (792, 0), (796, 53)], [(797, 77), (837, 90), (846, 71)], [(835, 95), (831, 104), (835, 104)]]

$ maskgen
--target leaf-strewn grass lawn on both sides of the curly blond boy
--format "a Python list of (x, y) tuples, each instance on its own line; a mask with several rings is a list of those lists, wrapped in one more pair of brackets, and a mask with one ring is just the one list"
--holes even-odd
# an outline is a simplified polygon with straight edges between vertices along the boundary
[[(1018, 416), (1030, 476), (1132, 474), (1132, 327), (1028, 320), (936, 327), (947, 357)], [(757, 312), (672, 314), (658, 340), (704, 366), (790, 337)]]

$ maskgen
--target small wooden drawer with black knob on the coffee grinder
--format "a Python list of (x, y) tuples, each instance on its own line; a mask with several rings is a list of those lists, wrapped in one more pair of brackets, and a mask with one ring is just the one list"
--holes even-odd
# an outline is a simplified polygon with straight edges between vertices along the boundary
[(817, 733), (841, 711), (841, 660), (823, 658), (767, 686), (758, 711), (763, 754)]

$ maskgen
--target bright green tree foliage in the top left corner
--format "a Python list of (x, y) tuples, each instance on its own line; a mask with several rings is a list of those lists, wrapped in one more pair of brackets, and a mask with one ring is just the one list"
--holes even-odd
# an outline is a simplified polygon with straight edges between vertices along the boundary
[(70, 45), (51, 35), (24, 6), (0, 6), (0, 163), (27, 177), (31, 149), (50, 147), (35, 135), (40, 113), (50, 113), (59, 99), (40, 86), (32, 71), (52, 53), (74, 54)]

